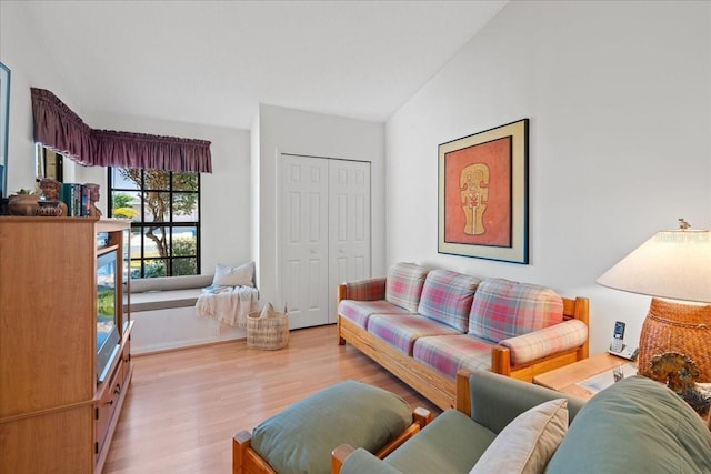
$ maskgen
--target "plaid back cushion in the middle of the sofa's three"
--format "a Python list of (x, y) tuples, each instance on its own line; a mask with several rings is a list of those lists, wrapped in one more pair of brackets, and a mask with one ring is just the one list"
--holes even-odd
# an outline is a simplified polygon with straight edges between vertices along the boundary
[(449, 270), (432, 270), (424, 280), (418, 313), (467, 332), (471, 302), (480, 281)]

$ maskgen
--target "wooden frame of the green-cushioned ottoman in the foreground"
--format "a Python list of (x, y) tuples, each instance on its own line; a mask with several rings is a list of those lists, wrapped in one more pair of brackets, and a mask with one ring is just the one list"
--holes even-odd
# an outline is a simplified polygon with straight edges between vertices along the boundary
[[(417, 407), (412, 412), (412, 424), (398, 435), (390, 443), (385, 444), (375, 456), (381, 460), (392, 453), (402, 443), (414, 436), (427, 426), (433, 418), (432, 413), (422, 407)], [(264, 461), (252, 446), (252, 434), (248, 431), (240, 431), (232, 438), (232, 473), (233, 474), (277, 474), (277, 472)], [(337, 461), (340, 456), (331, 456), (331, 474), (338, 474), (341, 465)]]

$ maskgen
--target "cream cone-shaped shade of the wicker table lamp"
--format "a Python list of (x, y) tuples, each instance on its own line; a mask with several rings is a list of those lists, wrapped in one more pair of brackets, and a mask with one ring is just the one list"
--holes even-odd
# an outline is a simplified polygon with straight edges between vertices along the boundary
[(658, 232), (598, 283), (650, 296), (711, 303), (711, 232)]

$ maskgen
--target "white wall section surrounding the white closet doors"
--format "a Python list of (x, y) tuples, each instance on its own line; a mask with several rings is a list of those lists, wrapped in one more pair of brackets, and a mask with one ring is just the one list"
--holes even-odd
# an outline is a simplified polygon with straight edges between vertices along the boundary
[[(261, 105), (259, 112), (259, 209), (253, 215), (259, 235), (257, 276), (260, 301), (276, 307), (280, 300), (277, 278), (277, 159), (280, 153), (370, 161), (372, 172), (372, 272), (384, 274), (384, 124)], [(256, 161), (253, 160), (253, 163)], [(336, 289), (333, 289), (336, 291)]]

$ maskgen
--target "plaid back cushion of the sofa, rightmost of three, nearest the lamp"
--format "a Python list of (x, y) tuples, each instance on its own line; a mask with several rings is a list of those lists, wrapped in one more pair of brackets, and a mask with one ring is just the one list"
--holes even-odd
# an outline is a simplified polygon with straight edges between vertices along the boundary
[(499, 342), (563, 321), (563, 300), (551, 289), (503, 279), (479, 283), (469, 334)]

